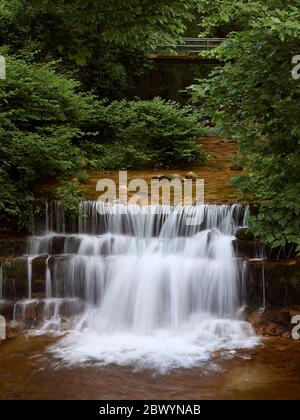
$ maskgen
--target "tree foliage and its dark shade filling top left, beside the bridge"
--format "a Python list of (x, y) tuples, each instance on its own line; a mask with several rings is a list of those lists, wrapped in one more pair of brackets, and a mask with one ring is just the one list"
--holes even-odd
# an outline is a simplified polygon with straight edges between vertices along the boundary
[(133, 97), (147, 51), (180, 38), (195, 2), (2, 0), (0, 45), (37, 62), (62, 60), (63, 71), (102, 97)]

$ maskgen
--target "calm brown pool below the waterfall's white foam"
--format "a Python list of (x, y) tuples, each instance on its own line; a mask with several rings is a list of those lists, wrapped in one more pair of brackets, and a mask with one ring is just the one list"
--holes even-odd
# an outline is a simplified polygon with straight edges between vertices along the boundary
[(131, 367), (63, 367), (57, 338), (23, 335), (0, 345), (0, 399), (300, 399), (300, 342), (264, 339), (231, 358), (167, 375)]

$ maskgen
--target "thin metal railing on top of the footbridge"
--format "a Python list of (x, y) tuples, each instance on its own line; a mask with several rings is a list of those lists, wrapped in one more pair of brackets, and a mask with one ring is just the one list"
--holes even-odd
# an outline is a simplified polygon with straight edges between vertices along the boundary
[(218, 47), (227, 38), (184, 38), (182, 44), (163, 45), (156, 49), (157, 53), (199, 54)]

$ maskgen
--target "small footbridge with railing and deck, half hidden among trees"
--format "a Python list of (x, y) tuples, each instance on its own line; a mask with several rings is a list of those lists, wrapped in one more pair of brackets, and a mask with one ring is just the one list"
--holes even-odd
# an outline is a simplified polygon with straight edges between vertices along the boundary
[(201, 53), (213, 50), (226, 40), (227, 38), (183, 38), (181, 44), (158, 47), (150, 58), (153, 60), (216, 61), (201, 56)]

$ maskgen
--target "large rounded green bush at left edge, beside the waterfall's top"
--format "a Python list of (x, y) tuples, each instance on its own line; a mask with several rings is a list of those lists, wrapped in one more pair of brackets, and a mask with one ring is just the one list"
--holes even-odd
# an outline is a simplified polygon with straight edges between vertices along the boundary
[(80, 149), (93, 98), (50, 64), (7, 56), (0, 83), (0, 197), (2, 217), (30, 227), (39, 183), (80, 167)]

